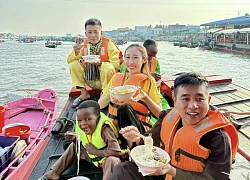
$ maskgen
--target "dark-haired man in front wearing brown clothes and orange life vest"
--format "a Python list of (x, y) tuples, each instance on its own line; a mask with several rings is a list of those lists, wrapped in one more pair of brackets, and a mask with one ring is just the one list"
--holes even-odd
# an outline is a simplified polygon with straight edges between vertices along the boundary
[[(174, 81), (175, 108), (159, 112), (159, 120), (150, 130), (154, 145), (170, 155), (170, 163), (144, 177), (133, 162), (118, 164), (112, 180), (173, 179), (228, 180), (238, 148), (238, 135), (232, 123), (221, 113), (209, 110), (207, 80), (186, 73)], [(148, 104), (149, 105), (149, 104)], [(128, 126), (120, 133), (131, 142), (142, 144)]]

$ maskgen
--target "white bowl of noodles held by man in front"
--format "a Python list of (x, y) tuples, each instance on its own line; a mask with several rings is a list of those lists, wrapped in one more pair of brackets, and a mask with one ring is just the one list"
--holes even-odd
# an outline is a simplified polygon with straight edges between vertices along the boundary
[(147, 157), (145, 145), (134, 147), (130, 152), (130, 156), (140, 169), (147, 172), (154, 172), (170, 161), (168, 153), (156, 146), (153, 147), (153, 158)]

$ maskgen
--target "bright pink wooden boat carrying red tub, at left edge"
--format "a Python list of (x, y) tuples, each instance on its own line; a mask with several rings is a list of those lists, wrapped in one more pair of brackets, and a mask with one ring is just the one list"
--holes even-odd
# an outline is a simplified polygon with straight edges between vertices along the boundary
[(55, 91), (44, 89), (35, 97), (24, 97), (1, 106), (4, 126), (0, 146), (9, 148), (0, 157), (0, 179), (29, 178), (50, 141), (57, 101)]

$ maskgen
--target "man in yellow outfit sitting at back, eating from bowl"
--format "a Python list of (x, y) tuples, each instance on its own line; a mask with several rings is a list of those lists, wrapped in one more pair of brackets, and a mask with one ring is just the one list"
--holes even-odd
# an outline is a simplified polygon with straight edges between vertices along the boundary
[[(85, 63), (82, 56), (100, 55), (100, 81), (92, 85), (95, 89), (102, 89), (102, 83), (108, 84), (111, 77), (119, 70), (122, 63), (122, 52), (116, 44), (102, 36), (102, 24), (98, 19), (89, 19), (85, 23), (85, 35), (87, 39), (83, 44), (75, 45), (69, 54), (67, 62), (70, 68), (72, 85), (81, 90), (81, 95), (73, 102), (72, 107), (77, 107), (83, 100), (90, 97), (85, 86)], [(82, 63), (79, 62), (82, 61)]]

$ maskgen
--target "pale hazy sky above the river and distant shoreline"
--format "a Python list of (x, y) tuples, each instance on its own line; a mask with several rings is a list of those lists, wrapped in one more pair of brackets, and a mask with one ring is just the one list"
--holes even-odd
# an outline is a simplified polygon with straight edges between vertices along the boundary
[(156, 24), (200, 25), (250, 14), (250, 0), (0, 0), (0, 33), (84, 34), (89, 18), (103, 30)]

